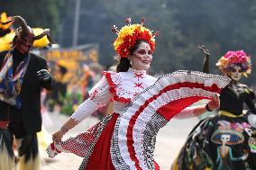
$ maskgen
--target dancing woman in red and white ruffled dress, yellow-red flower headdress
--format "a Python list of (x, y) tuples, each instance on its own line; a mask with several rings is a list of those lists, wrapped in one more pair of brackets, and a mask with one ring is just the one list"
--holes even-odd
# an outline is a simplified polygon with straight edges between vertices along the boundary
[[(116, 72), (104, 72), (90, 90), (90, 97), (52, 135), (54, 142), (47, 149), (50, 157), (60, 152), (84, 157), (80, 170), (160, 169), (152, 157), (158, 130), (175, 115), (181, 119), (218, 108), (216, 94), (230, 81), (193, 71), (178, 71), (159, 79), (147, 75), (158, 33), (144, 27), (144, 20), (141, 24), (131, 24), (130, 18), (126, 22), (120, 31), (113, 28), (117, 34), (114, 49), (121, 57)], [(185, 109), (201, 99), (210, 101)], [(76, 138), (61, 141), (70, 129), (110, 100), (112, 114)]]

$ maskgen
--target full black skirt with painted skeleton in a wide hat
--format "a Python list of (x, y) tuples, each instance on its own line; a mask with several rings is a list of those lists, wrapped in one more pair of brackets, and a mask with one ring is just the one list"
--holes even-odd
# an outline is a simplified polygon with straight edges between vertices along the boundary
[(255, 170), (256, 128), (248, 117), (222, 112), (197, 123), (171, 169)]

